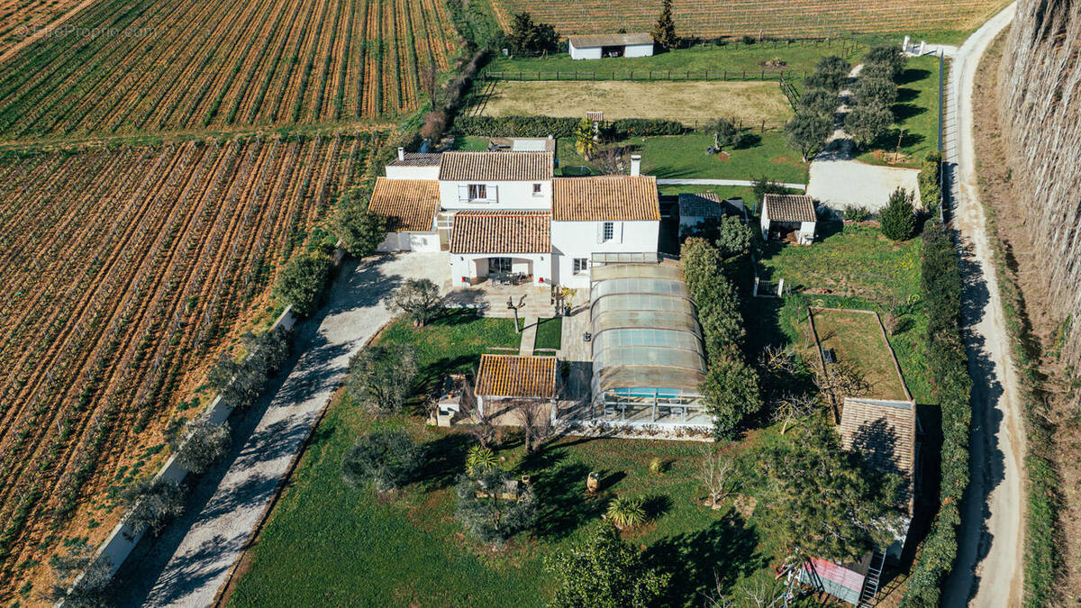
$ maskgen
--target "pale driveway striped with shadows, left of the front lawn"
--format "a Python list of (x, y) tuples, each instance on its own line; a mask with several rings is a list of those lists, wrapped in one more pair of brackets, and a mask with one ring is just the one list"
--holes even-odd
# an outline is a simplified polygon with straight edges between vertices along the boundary
[(343, 380), (350, 356), (392, 314), (387, 294), (405, 278), (446, 274), (446, 254), (348, 261), (319, 316), (294, 329), (292, 367), (277, 391), (236, 421), (235, 448), (195, 488), (196, 504), (120, 570), (120, 606), (210, 606), (270, 506), (304, 439)]

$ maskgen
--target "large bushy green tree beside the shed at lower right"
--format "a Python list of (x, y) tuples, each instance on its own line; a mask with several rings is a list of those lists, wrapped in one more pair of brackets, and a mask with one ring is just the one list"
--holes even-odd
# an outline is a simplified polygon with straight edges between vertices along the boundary
[(889, 546), (899, 526), (903, 479), (868, 467), (825, 422), (793, 428), (757, 458), (766, 479), (765, 524), (782, 546), (833, 561)]

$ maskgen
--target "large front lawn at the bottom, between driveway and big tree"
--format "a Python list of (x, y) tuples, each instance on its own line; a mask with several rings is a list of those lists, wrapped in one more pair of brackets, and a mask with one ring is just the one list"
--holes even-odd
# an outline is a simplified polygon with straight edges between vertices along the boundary
[[(381, 340), (417, 347), (424, 378), (418, 389), (446, 371), (472, 369), (485, 346), (516, 343), (507, 321), (467, 315), (422, 330), (399, 321)], [(377, 425), (404, 427), (430, 450), (421, 478), (385, 497), (351, 489), (341, 476), (349, 446)], [(761, 489), (747, 449), (775, 440), (768, 429), (732, 448), (746, 472), (743, 491)], [(505, 434), (502, 466), (531, 476), (540, 507), (532, 531), (493, 551), (463, 537), (454, 519), (451, 488), (470, 441), (458, 429), (426, 427), (416, 415), (373, 420), (339, 395), (252, 550), (229, 605), (542, 606), (553, 587), (544, 557), (582, 538), (617, 494), (646, 500), (651, 521), (625, 536), (675, 572), (666, 606), (700, 606), (718, 582), (715, 572), (735, 595), (751, 581), (772, 580), (777, 547), (757, 519), (697, 504), (704, 493), (696, 480), (700, 444), (566, 437), (526, 458), (520, 437)], [(654, 459), (665, 463), (663, 473), (650, 472)], [(591, 471), (602, 478), (596, 497), (585, 493)]]

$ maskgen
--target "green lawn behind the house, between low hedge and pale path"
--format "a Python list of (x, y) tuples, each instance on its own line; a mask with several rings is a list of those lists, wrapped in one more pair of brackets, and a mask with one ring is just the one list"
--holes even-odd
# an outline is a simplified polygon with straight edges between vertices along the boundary
[[(785, 143), (776, 131), (748, 132), (745, 143), (720, 155), (707, 155), (713, 137), (706, 133), (686, 133), (656, 137), (636, 137), (617, 142), (642, 155), (642, 173), (657, 179), (753, 180), (766, 176), (778, 182), (806, 183), (808, 169), (799, 153)], [(574, 149), (574, 142), (559, 141), (560, 167), (590, 167)], [(685, 190), (684, 190), (685, 191)]]

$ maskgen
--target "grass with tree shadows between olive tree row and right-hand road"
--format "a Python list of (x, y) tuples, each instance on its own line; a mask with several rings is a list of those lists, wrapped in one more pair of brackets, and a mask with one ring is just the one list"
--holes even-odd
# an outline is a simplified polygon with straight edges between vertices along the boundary
[(905, 166), (919, 167), (929, 151), (938, 149), (938, 58), (932, 56), (908, 60), (898, 82), (897, 104), (893, 106), (897, 122), (892, 133), (875, 142), (870, 150), (858, 158), (864, 162), (881, 164), (879, 150), (889, 153), (897, 148), (907, 156)]

